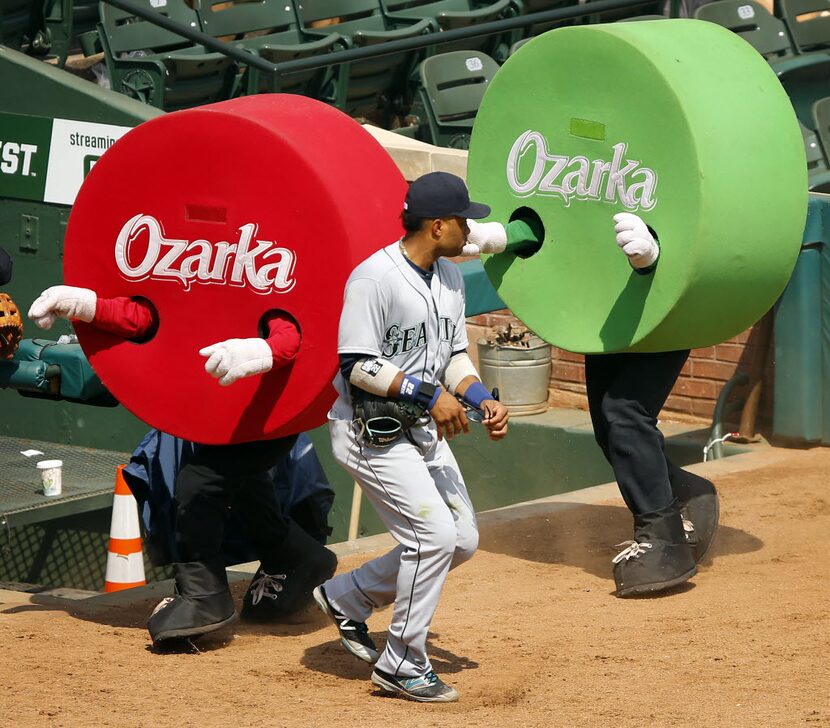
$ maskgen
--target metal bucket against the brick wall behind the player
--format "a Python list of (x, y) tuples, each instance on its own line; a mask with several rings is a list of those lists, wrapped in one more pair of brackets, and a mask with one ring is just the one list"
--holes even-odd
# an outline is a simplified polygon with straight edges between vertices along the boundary
[(478, 370), (489, 390), (498, 388), (499, 399), (512, 416), (535, 415), (548, 409), (550, 344), (534, 336), (529, 346), (500, 346), (479, 339)]

